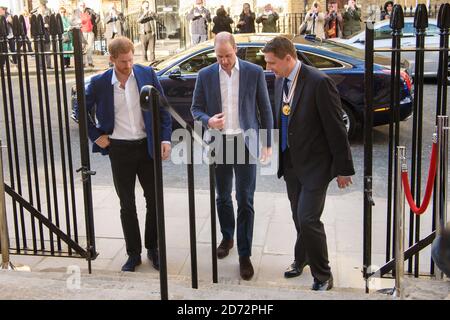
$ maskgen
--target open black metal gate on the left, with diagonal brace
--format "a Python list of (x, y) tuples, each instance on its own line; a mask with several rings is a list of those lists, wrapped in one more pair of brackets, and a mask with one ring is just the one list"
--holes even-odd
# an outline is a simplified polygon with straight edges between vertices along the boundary
[(91, 272), (97, 256), (94, 172), (87, 127), (69, 121), (67, 84), (72, 80), (64, 67), (65, 56), (75, 58), (78, 100), (84, 101), (82, 34), (79, 29), (70, 32), (74, 50), (65, 52), (59, 14), (31, 16), (29, 22), (31, 40), (23, 16), (0, 17), (0, 140), (7, 146), (3, 169), (9, 251), (85, 258)]

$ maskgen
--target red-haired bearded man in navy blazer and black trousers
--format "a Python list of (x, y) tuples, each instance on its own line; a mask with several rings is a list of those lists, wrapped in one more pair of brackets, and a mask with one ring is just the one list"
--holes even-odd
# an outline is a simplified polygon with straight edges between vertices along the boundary
[[(86, 89), (89, 113), (95, 107), (96, 123), (89, 117), (89, 138), (93, 152), (109, 154), (114, 187), (120, 199), (120, 218), (125, 236), (128, 260), (122, 271), (134, 271), (141, 264), (141, 235), (136, 213), (136, 177), (144, 190), (147, 204), (145, 247), (153, 267), (159, 270), (156, 202), (154, 193), (153, 143), (151, 113), (140, 108), (139, 93), (143, 86), (163, 90), (150, 67), (133, 64), (134, 45), (125, 37), (112, 40), (108, 46), (114, 65), (91, 79)], [(161, 112), (162, 158), (170, 156), (172, 122), (170, 114)]]

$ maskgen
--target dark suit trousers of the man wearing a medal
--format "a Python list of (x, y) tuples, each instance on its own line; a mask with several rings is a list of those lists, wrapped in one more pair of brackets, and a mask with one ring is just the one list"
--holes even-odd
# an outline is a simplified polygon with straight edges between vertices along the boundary
[(289, 156), (283, 153), (284, 179), (291, 203), (292, 218), (297, 230), (295, 261), (308, 262), (313, 277), (326, 281), (331, 276), (325, 228), (320, 221), (328, 184), (309, 190), (297, 178)]

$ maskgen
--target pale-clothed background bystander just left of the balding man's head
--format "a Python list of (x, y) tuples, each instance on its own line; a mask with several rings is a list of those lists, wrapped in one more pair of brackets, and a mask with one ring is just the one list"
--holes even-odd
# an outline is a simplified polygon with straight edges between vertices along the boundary
[(203, 6), (203, 0), (196, 0), (195, 7), (187, 14), (191, 21), (191, 42), (193, 45), (208, 40), (208, 23), (211, 23), (211, 13)]

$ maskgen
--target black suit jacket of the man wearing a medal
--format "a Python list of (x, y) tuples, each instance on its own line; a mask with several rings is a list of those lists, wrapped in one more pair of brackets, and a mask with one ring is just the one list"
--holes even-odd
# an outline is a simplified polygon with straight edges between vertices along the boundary
[[(278, 129), (282, 87), (283, 78), (277, 79), (274, 119)], [(337, 175), (355, 174), (342, 112), (333, 80), (302, 63), (289, 116), (288, 144), (295, 174), (307, 188), (323, 187)], [(281, 178), (284, 175), (281, 151), (279, 155)]]

